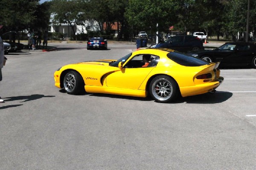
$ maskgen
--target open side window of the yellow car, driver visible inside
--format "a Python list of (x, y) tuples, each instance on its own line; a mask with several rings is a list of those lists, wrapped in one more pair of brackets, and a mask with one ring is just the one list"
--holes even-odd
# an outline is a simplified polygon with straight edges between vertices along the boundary
[[(145, 66), (145, 59), (143, 60), (143, 56), (147, 56), (148, 65)], [(153, 62), (152, 62), (153, 61)], [(132, 58), (128, 63), (125, 64), (125, 68), (141, 68), (141, 67), (155, 67), (159, 61), (159, 57), (150, 54), (141, 54), (136, 55)]]

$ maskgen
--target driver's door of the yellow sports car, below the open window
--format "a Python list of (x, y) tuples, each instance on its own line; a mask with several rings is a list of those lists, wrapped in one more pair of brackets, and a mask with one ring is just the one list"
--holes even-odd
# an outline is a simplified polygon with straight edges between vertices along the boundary
[(139, 89), (145, 78), (156, 66), (155, 64), (154, 66), (142, 67), (144, 65), (142, 56), (143, 55), (134, 56), (134, 58), (123, 66), (121, 71), (113, 72), (108, 75), (106, 85), (108, 87), (123, 89)]

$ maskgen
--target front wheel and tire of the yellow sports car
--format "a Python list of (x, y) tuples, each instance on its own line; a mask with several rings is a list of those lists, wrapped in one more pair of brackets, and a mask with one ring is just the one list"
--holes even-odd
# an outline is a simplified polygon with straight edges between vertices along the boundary
[(67, 94), (78, 95), (85, 92), (84, 80), (78, 72), (67, 72), (62, 83)]

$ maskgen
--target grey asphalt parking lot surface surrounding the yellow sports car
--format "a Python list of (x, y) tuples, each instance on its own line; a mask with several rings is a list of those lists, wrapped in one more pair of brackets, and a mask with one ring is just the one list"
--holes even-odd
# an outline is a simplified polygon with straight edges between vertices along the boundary
[(224, 82), (215, 94), (168, 104), (118, 95), (75, 96), (54, 86), (56, 69), (119, 59), (136, 45), (108, 44), (108, 50), (87, 50), (82, 43), (49, 46), (57, 50), (6, 55), (0, 170), (256, 169), (256, 69), (221, 69)]

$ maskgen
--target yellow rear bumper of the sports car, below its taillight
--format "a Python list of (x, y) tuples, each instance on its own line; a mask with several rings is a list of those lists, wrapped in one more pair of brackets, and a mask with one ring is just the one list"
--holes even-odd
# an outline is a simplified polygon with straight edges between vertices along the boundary
[(223, 77), (219, 77), (217, 80), (206, 83), (199, 84), (195, 86), (180, 87), (180, 93), (182, 97), (191, 95), (201, 95), (207, 92), (212, 92), (224, 81)]

